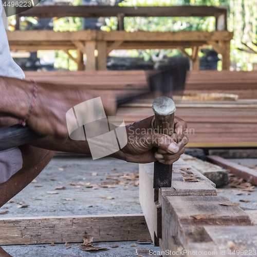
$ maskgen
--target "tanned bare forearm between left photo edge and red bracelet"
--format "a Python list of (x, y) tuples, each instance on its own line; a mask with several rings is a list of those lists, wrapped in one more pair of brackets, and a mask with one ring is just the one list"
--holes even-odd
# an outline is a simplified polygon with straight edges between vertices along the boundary
[(23, 119), (29, 109), (33, 83), (0, 76), (0, 116)]

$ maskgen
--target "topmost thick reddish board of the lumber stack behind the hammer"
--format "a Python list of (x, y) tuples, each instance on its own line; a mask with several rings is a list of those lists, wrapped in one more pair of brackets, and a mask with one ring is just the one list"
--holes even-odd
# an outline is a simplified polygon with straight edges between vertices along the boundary
[[(147, 88), (146, 75), (155, 71), (26, 71), (26, 78), (38, 82), (82, 85), (102, 90), (142, 90)], [(239, 99), (257, 98), (257, 72), (249, 71), (188, 71), (185, 94), (223, 93), (238, 95)]]

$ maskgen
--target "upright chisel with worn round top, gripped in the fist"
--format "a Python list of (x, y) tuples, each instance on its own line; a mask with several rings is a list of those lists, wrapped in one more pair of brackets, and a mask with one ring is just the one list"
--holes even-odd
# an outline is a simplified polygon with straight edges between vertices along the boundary
[[(168, 97), (158, 97), (153, 102), (155, 113), (154, 128), (159, 134), (172, 135), (174, 132), (175, 103)], [(170, 188), (172, 164), (154, 163), (154, 188)]]

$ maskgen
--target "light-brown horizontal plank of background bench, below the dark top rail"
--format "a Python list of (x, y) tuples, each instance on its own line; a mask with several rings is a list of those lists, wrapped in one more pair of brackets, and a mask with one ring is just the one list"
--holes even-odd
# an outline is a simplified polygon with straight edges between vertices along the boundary
[[(177, 42), (193, 42), (193, 41), (229, 41), (233, 38), (233, 33), (228, 31), (176, 31), (176, 32), (148, 32), (148, 31), (94, 31), (94, 30), (79, 30), (79, 31), (6, 31), (9, 44), (12, 42), (28, 42), (38, 44), (41, 41), (177, 41)], [(70, 40), (69, 40), (70, 39)]]

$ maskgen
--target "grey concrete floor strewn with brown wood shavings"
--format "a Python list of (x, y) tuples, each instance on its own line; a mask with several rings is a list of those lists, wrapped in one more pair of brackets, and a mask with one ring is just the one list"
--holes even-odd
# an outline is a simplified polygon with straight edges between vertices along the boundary
[[(253, 166), (257, 159), (236, 159), (232, 160), (241, 164)], [(116, 170), (115, 170), (116, 169)], [(87, 215), (87, 214), (126, 214), (142, 213), (138, 187), (133, 184), (135, 181), (119, 179), (121, 183), (114, 185), (115, 188), (86, 188), (84, 186), (72, 186), (69, 182), (90, 182), (101, 184), (108, 181), (107, 176), (115, 173), (130, 175), (138, 171), (138, 164), (127, 163), (112, 158), (103, 158), (93, 161), (90, 157), (84, 156), (57, 156), (52, 159), (46, 169), (36, 178), (35, 183), (30, 183), (18, 195), (13, 197), (13, 203), (4, 205), (0, 212), (9, 211), (1, 217), (22, 217), (22, 216), (57, 216), (57, 215)], [(97, 173), (92, 176), (92, 173)], [(65, 190), (55, 190), (56, 187), (66, 187)], [(58, 194), (49, 194), (56, 191)], [(242, 209), (257, 209), (257, 190), (245, 192), (241, 189), (226, 186), (217, 190), (218, 195), (224, 195), (235, 203), (240, 203)], [(47, 193), (48, 192), (48, 193)], [(105, 199), (101, 197), (110, 197)], [(72, 198), (74, 200), (67, 200)], [(239, 200), (247, 199), (249, 203)], [(17, 208), (20, 204), (29, 205), (27, 208)], [(3, 248), (13, 256), (27, 257), (83, 257), (83, 256), (135, 256), (135, 248), (147, 248), (159, 250), (153, 245), (139, 245), (131, 247), (136, 242), (103, 242), (94, 243), (96, 247), (108, 247), (108, 250), (85, 252), (79, 249), (80, 244), (69, 244), (66, 249), (64, 244), (50, 245), (28, 245), (28, 246), (4, 246)], [(118, 245), (118, 248), (110, 246)]]

